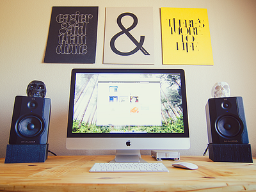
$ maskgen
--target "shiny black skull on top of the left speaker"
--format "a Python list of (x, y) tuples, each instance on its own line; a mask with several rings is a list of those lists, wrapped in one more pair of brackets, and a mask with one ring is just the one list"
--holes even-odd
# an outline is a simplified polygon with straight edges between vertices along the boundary
[(46, 94), (46, 86), (42, 81), (31, 81), (28, 84), (27, 95), (28, 97), (42, 97)]

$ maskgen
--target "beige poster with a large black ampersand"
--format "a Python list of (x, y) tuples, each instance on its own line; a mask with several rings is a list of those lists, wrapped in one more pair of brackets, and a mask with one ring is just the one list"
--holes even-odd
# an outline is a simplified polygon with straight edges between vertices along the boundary
[(106, 8), (105, 64), (154, 64), (153, 9)]

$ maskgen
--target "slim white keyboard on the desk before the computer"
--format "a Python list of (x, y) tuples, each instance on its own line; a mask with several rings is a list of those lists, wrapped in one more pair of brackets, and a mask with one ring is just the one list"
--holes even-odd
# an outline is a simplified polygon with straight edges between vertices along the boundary
[(163, 163), (95, 163), (89, 172), (169, 172)]

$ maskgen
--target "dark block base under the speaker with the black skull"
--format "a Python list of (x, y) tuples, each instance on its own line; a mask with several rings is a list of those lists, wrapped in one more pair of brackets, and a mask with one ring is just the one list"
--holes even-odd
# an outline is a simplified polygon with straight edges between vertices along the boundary
[(48, 144), (7, 145), (4, 163), (44, 163), (48, 157)]

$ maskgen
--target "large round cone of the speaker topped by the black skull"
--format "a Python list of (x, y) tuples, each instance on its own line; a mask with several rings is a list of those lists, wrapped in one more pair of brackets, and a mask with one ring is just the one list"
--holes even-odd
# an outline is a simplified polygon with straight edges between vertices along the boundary
[(24, 137), (34, 137), (42, 130), (42, 121), (36, 116), (26, 116), (18, 124), (18, 131)]

